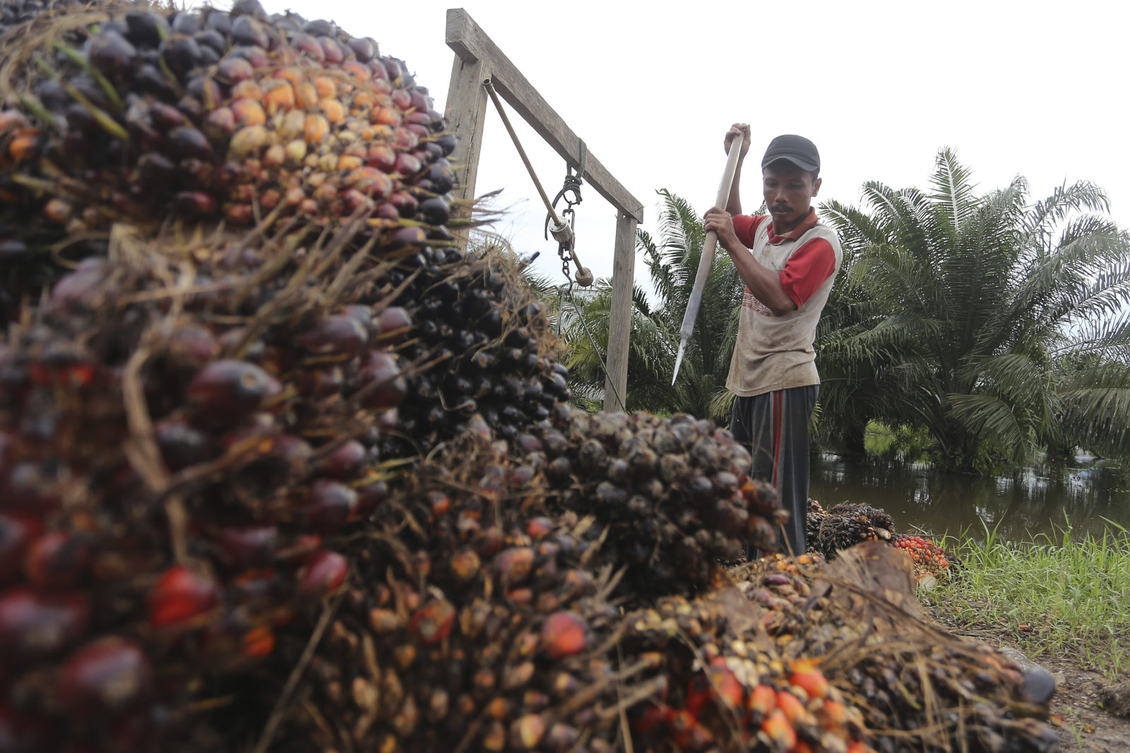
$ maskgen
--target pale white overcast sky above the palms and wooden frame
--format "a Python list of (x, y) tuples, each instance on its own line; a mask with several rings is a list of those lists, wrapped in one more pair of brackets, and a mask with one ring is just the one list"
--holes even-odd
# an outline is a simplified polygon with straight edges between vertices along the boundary
[[(982, 190), (1024, 175), (1038, 199), (1063, 181), (1093, 181), (1130, 227), (1127, 2), (262, 2), (372, 36), (441, 111), (453, 61), (445, 12), (464, 8), (644, 204), (649, 230), (658, 189), (699, 213), (710, 207), (736, 121), (753, 125), (750, 168), (779, 133), (812, 139), (818, 200), (858, 203), (872, 180), (925, 187), (948, 146)], [(511, 117), (553, 196), (564, 160)], [(760, 198), (749, 172), (742, 200), (753, 210)], [(496, 229), (521, 253), (540, 251), (540, 271), (560, 281), (556, 245), (541, 238), (545, 209), (490, 107), (477, 193), (494, 189), (511, 208)], [(615, 210), (582, 193), (577, 253), (606, 277)]]

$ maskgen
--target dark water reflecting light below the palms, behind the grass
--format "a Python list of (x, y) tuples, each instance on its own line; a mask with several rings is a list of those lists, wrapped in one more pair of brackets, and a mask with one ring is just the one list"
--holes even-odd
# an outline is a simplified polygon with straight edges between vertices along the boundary
[(1130, 489), (1103, 469), (1068, 470), (1049, 478), (1043, 469), (1016, 476), (979, 478), (941, 473), (925, 463), (855, 465), (834, 455), (812, 457), (809, 496), (828, 508), (838, 502), (881, 507), (899, 533), (967, 531), (983, 539), (981, 520), (999, 524), (998, 535), (1019, 541), (1051, 533), (1064, 516), (1078, 534), (1102, 534), (1103, 518), (1130, 528)]

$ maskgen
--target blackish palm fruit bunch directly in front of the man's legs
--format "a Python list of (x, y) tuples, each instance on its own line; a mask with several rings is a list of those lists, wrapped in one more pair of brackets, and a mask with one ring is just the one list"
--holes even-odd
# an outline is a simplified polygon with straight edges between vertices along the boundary
[(512, 446), (545, 474), (554, 509), (608, 527), (625, 593), (641, 598), (709, 586), (745, 544), (773, 549), (786, 515), (746, 476), (749, 454), (729, 431), (689, 415), (575, 412)]

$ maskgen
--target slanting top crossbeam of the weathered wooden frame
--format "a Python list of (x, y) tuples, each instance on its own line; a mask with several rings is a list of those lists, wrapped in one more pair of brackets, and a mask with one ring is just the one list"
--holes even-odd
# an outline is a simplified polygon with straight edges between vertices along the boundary
[[(475, 19), (462, 8), (451, 8), (447, 10), (446, 41), (447, 46), (455, 52), (455, 55), (462, 63), (473, 64), (478, 62), (484, 64), (485, 69), (489, 71), (490, 80), (494, 82), (498, 95), (567, 164), (572, 165), (574, 169), (580, 169), (581, 139), (565, 124), (560, 115), (549, 106), (545, 98), (538, 94), (538, 90), (522, 76), (522, 72), (518, 70), (514, 63), (502, 53), (498, 46), (490, 41), (490, 37), (479, 28)], [(486, 76), (483, 76), (479, 82), (484, 78)], [(453, 72), (452, 84), (454, 85), (454, 82), (455, 77)], [(451, 95), (449, 95), (447, 100), (449, 103), (452, 102)], [(479, 121), (479, 129), (476, 133), (480, 132), (481, 121)], [(643, 204), (638, 199), (628, 193), (628, 190), (620, 185), (619, 181), (612, 177), (611, 173), (600, 164), (600, 160), (592, 152), (589, 152), (585, 158), (585, 169), (582, 177), (589, 185), (596, 189), (597, 193), (616, 207), (619, 212), (632, 216), (637, 222), (643, 221)]]

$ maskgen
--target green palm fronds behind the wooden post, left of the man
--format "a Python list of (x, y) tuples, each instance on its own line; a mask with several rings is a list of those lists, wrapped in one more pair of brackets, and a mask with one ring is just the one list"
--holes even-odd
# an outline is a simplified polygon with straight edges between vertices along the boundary
[[(731, 403), (725, 377), (738, 332), (741, 280), (725, 252), (715, 252), (695, 332), (672, 386), (679, 327), (706, 233), (686, 200), (667, 190), (658, 193), (662, 196), (659, 238), (645, 230), (636, 234), (636, 248), (644, 253), (654, 301), (638, 286), (633, 289), (626, 408), (658, 413), (685, 411), (727, 423)], [(566, 362), (577, 392), (591, 394), (603, 386), (599, 359), (607, 352), (610, 306), (610, 283), (598, 280), (596, 292), (579, 301), (575, 314), (563, 314), (563, 336), (571, 349)], [(582, 322), (589, 327), (591, 341)]]

